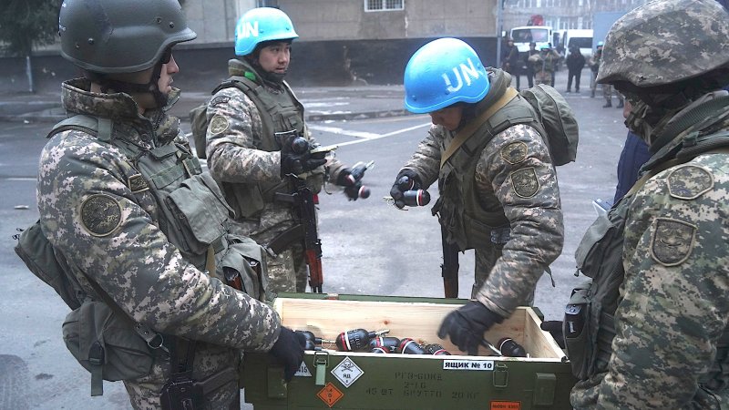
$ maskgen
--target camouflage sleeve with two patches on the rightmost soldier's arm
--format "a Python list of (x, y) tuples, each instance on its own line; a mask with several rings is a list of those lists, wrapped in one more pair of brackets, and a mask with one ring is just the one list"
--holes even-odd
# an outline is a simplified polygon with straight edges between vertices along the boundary
[(716, 371), (717, 342), (729, 323), (726, 161), (701, 156), (663, 171), (636, 194), (598, 407), (719, 408), (689, 403), (702, 395), (699, 377)]

